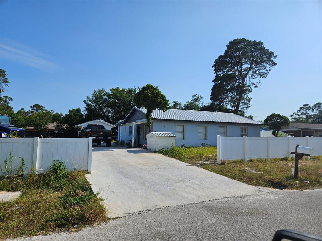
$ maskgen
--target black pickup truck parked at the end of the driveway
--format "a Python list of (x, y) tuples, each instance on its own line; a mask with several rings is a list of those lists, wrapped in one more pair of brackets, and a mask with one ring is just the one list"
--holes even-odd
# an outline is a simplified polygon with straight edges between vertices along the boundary
[(93, 137), (93, 143), (100, 145), (105, 142), (107, 147), (110, 147), (112, 143), (112, 131), (105, 129), (103, 125), (88, 124), (79, 131), (78, 137)]

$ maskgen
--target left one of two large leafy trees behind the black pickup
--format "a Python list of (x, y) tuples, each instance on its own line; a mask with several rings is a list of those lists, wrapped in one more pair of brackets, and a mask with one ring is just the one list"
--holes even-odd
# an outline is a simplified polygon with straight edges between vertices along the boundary
[(109, 92), (104, 88), (94, 90), (91, 96), (86, 96), (84, 102), (85, 108), (85, 120), (103, 120), (106, 122), (110, 121), (110, 110), (109, 110)]

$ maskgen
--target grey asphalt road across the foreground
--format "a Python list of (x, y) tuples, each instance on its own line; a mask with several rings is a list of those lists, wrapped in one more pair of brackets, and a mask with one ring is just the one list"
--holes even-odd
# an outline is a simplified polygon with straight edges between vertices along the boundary
[(78, 233), (28, 240), (271, 240), (288, 228), (322, 236), (322, 190), (275, 190), (132, 214)]

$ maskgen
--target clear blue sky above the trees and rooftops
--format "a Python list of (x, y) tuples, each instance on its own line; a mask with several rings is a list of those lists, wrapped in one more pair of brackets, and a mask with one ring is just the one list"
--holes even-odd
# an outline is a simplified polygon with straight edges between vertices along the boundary
[(322, 1), (0, 0), (0, 68), (12, 106), (68, 112), (94, 89), (158, 85), (209, 102), (213, 61), (235, 38), (278, 55), (248, 115), (289, 116), (322, 99)]

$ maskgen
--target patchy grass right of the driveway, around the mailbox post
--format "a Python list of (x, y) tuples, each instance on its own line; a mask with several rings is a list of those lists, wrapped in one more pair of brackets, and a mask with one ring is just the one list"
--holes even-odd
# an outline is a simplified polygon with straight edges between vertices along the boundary
[(218, 165), (216, 147), (174, 147), (159, 153), (254, 186), (295, 190), (322, 188), (322, 156), (311, 156), (310, 160), (302, 158), (298, 178), (294, 178), (291, 173), (294, 158), (289, 157), (270, 161), (222, 161), (224, 165)]

